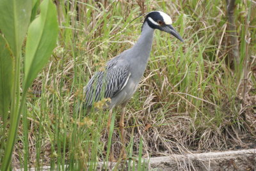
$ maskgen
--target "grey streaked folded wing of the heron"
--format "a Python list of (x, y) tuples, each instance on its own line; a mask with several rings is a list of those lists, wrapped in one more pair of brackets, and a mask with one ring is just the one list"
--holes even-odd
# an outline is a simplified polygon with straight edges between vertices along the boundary
[(116, 66), (116, 61), (109, 61), (105, 71), (99, 71), (90, 79), (84, 91), (86, 93), (86, 106), (102, 98), (113, 98), (127, 84), (130, 77), (129, 65)]

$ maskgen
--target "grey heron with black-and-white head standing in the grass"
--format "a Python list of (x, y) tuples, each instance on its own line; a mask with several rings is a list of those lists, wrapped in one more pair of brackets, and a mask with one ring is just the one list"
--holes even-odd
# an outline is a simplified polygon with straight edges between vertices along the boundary
[[(109, 119), (108, 133), (111, 123), (113, 108), (121, 105), (120, 132), (122, 150), (120, 154), (125, 157), (124, 115), (125, 105), (131, 99), (138, 88), (139, 82), (148, 63), (148, 57), (152, 48), (154, 29), (159, 29), (172, 34), (183, 41), (179, 33), (172, 27), (172, 19), (162, 11), (152, 11), (147, 14), (141, 29), (141, 35), (136, 44), (108, 61), (105, 71), (99, 71), (93, 75), (84, 92), (86, 93), (86, 107), (93, 107), (93, 102), (102, 98), (111, 98), (108, 104)], [(114, 160), (113, 149), (109, 160)]]

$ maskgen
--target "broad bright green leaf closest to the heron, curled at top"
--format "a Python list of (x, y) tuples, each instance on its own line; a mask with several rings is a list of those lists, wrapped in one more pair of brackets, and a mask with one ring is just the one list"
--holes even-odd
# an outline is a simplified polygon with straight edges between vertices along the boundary
[(41, 13), (33, 20), (28, 29), (25, 59), (24, 92), (51, 56), (56, 46), (58, 22), (56, 7), (50, 0), (40, 4)]

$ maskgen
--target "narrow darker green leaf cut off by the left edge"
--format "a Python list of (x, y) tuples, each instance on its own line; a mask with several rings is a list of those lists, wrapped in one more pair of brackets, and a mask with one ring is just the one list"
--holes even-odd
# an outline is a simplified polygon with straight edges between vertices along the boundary
[(3, 115), (3, 119), (6, 119), (10, 107), (12, 84), (13, 59), (6, 41), (0, 34), (0, 116)]

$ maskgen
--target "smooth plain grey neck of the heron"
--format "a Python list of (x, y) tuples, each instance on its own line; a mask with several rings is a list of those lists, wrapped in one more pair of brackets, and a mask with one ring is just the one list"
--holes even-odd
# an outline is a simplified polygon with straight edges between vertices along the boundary
[(148, 26), (147, 22), (145, 22), (142, 26), (140, 38), (132, 47), (134, 54), (136, 54), (137, 57), (140, 57), (140, 59), (143, 61), (148, 61), (148, 57), (152, 48), (153, 37), (154, 29)]

